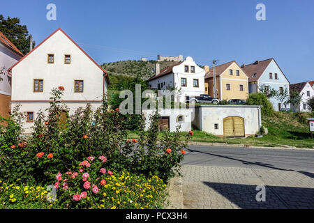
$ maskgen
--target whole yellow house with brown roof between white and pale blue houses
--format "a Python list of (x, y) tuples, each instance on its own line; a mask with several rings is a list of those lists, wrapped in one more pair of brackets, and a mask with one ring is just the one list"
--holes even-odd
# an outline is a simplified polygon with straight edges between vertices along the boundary
[[(214, 97), (213, 68), (204, 66), (205, 94)], [(216, 96), (219, 100), (247, 99), (248, 76), (236, 61), (216, 66)]]

